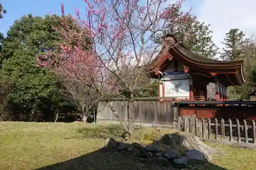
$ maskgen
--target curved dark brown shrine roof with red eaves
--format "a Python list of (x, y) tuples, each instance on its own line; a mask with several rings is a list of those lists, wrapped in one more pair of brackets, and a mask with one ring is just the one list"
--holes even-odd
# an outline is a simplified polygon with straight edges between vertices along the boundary
[[(183, 63), (185, 72), (199, 71), (211, 77), (219, 77), (226, 86), (240, 86), (245, 82), (243, 74), (243, 60), (240, 61), (219, 61), (209, 59), (190, 52), (182, 43), (178, 43), (172, 35), (164, 39), (173, 39), (177, 45), (162, 47), (158, 56), (153, 60), (153, 71), (158, 75), (164, 71), (172, 60)], [(176, 44), (175, 43), (175, 44)]]

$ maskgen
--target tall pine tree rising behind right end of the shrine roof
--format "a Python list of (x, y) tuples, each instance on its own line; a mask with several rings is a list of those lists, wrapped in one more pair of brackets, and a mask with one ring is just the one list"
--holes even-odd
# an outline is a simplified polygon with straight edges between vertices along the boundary
[(226, 33), (226, 37), (222, 42), (225, 47), (220, 58), (224, 61), (234, 61), (237, 58), (241, 58), (244, 54), (244, 47), (248, 39), (245, 39), (245, 34), (239, 29), (231, 29)]

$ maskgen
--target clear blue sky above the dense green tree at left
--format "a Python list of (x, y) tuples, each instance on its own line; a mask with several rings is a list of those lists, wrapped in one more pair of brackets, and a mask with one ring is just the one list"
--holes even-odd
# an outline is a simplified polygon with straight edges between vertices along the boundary
[[(185, 7), (190, 7), (195, 1), (197, 0), (187, 1)], [(13, 21), (25, 14), (44, 16), (50, 14), (50, 10), (53, 14), (61, 14), (61, 2), (65, 6), (66, 13), (74, 14), (74, 7), (79, 8), (81, 14), (86, 11), (86, 3), (83, 0), (2, 0), (1, 3), (7, 10), (7, 14), (0, 20), (0, 32), (6, 34)]]

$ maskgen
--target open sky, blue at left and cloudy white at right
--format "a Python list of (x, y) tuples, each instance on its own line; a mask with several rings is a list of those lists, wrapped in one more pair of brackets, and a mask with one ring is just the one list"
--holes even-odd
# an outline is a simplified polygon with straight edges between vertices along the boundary
[[(144, 0), (142, 0), (144, 1)], [(175, 0), (168, 0), (172, 3)], [(74, 6), (80, 9), (81, 14), (86, 11), (83, 0), (2, 0), (7, 14), (0, 20), (0, 32), (6, 33), (15, 19), (25, 14), (44, 16), (60, 14), (60, 4), (65, 5), (66, 13), (74, 14)], [(223, 47), (221, 41), (225, 33), (230, 29), (238, 28), (247, 36), (256, 34), (256, 1), (255, 0), (186, 0), (184, 10), (193, 7), (192, 13), (201, 21), (210, 24), (210, 30), (214, 32), (213, 40), (219, 47)]]

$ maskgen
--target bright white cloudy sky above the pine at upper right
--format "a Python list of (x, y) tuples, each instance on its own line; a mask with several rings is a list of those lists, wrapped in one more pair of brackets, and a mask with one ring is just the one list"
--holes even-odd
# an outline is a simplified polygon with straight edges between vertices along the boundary
[(214, 42), (220, 48), (230, 29), (238, 28), (248, 37), (256, 33), (255, 0), (202, 0), (194, 6), (199, 19), (211, 25)]

